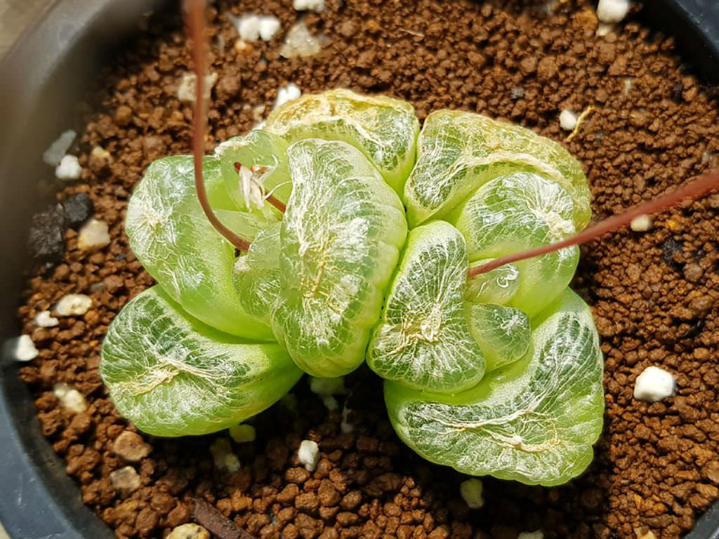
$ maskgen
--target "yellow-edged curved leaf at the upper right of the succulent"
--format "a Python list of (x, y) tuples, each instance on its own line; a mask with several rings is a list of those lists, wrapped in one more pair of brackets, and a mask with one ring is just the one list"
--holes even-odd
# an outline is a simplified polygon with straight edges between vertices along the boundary
[(513, 171), (534, 171), (564, 186), (574, 201), (577, 229), (589, 222), (582, 165), (561, 144), (530, 129), (441, 110), (427, 116), (417, 145), (417, 164), (404, 189), (410, 227), (443, 218), (480, 185)]

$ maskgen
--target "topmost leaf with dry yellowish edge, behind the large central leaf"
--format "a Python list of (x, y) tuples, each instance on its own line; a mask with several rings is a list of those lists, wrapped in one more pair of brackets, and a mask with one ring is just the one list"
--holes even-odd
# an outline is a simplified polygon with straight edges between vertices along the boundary
[(289, 142), (314, 138), (352, 144), (401, 193), (414, 165), (419, 121), (405, 101), (337, 89), (290, 101), (270, 114), (264, 129)]

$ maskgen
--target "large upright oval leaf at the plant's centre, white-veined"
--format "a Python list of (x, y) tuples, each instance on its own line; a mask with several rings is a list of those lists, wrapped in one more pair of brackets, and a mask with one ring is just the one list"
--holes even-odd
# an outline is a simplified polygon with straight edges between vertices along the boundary
[(407, 234), (403, 207), (349, 144), (308, 139), (288, 155), (294, 188), (273, 329), (303, 370), (342, 376), (362, 363), (380, 317)]

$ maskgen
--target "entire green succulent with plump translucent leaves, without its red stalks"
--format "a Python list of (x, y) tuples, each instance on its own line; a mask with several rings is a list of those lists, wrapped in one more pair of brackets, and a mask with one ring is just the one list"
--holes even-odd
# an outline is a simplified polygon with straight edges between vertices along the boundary
[(467, 278), (587, 225), (587, 180), (563, 147), (458, 111), (420, 132), (408, 103), (336, 90), (274, 111), (203, 171), (216, 215), (252, 244), (237, 255), (207, 221), (191, 157), (150, 165), (127, 235), (158, 284), (116, 316), (101, 362), (138, 428), (229, 428), (303, 372), (367, 361), (398, 435), (430, 461), (528, 484), (590, 463), (603, 360), (568, 288), (577, 247)]

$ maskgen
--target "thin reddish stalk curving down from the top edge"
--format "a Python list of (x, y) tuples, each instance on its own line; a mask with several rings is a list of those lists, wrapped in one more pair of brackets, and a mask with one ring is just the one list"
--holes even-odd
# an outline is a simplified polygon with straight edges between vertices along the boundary
[(185, 17), (188, 26), (188, 34), (193, 42), (192, 60), (195, 66), (195, 106), (193, 111), (192, 126), (192, 154), (195, 165), (195, 190), (197, 199), (205, 212), (208, 221), (214, 226), (227, 241), (237, 247), (240, 251), (249, 249), (250, 241), (232, 230), (228, 229), (217, 218), (210, 206), (205, 188), (205, 180), (202, 175), (202, 158), (205, 155), (204, 135), (207, 126), (206, 99), (205, 99), (205, 75), (207, 72), (206, 45), (205, 45), (205, 9), (206, 0), (186, 0)]

